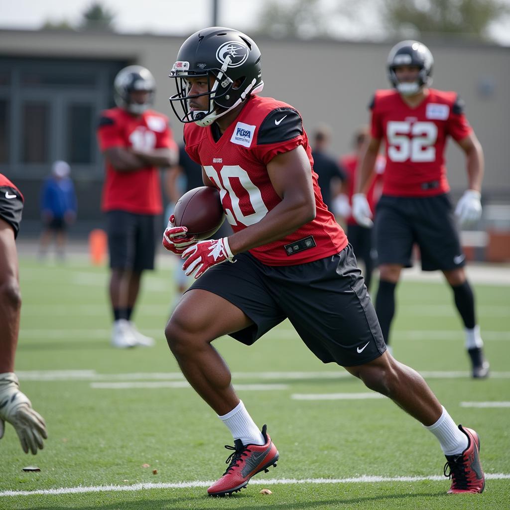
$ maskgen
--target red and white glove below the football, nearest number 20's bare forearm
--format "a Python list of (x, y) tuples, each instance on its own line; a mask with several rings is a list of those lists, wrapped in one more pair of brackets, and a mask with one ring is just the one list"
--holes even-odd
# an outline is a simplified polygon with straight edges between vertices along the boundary
[(190, 276), (196, 270), (195, 279), (199, 278), (210, 267), (216, 264), (221, 264), (226, 260), (233, 262), (230, 246), (228, 246), (228, 239), (222, 237), (221, 239), (209, 239), (207, 241), (200, 241), (194, 246), (187, 248), (181, 258), (186, 259), (183, 264), (183, 271), (187, 276)]

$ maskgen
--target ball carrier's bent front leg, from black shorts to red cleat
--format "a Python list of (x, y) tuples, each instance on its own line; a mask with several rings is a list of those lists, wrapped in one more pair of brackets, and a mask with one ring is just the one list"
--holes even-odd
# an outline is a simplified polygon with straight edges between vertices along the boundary
[(233, 450), (227, 460), (230, 464), (208, 489), (211, 495), (237, 492), (278, 458), (266, 426), (261, 432), (254, 423), (232, 387), (230, 370), (211, 345), (226, 334), (251, 345), (285, 318), (275, 314), (278, 305), (256, 281), (249, 259), (241, 254), (235, 264), (209, 269), (184, 294), (165, 328), (185, 377), (234, 438), (234, 447), (228, 447)]

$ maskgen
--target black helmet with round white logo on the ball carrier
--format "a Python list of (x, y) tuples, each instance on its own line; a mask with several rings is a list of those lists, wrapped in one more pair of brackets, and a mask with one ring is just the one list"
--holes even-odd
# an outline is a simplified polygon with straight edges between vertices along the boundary
[[(247, 35), (234, 29), (211, 27), (199, 30), (184, 41), (169, 74), (177, 93), (170, 97), (172, 109), (181, 122), (200, 126), (240, 105), (250, 94), (260, 92), (262, 81), (260, 49)], [(209, 91), (187, 95), (188, 77), (207, 77)], [(236, 81), (240, 83), (236, 84)], [(209, 109), (190, 111), (189, 99), (209, 96)], [(175, 106), (181, 104), (181, 113)]]

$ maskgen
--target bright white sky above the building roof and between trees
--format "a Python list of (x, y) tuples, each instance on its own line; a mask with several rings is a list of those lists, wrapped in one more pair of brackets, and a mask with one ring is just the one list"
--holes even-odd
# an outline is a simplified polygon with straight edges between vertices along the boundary
[[(324, 0), (326, 3), (330, 0)], [(510, 4), (510, 0), (504, 0)], [(189, 35), (212, 24), (212, 0), (100, 0), (114, 12), (119, 32)], [(218, 24), (245, 31), (254, 27), (265, 0), (219, 0)], [(38, 29), (46, 20), (77, 23), (92, 0), (0, 0), (0, 27)], [(363, 23), (343, 22), (346, 38), (380, 36), (370, 12)], [(492, 36), (510, 46), (510, 17), (496, 22)]]

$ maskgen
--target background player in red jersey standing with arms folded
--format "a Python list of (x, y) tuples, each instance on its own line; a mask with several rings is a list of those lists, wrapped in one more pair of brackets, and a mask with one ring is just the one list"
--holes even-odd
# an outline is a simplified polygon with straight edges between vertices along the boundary
[(102, 209), (110, 250), (112, 345), (151, 346), (131, 321), (142, 271), (154, 269), (158, 215), (163, 211), (157, 167), (176, 159), (168, 119), (150, 110), (156, 84), (141, 66), (120, 70), (114, 82), (117, 108), (101, 114), (99, 146), (106, 159)]

